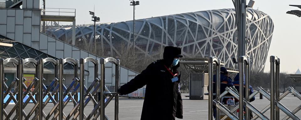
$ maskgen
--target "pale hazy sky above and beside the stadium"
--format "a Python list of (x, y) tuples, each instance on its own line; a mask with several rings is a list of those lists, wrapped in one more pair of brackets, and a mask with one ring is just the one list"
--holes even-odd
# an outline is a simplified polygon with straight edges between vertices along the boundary
[[(46, 8), (75, 8), (76, 24), (87, 24), (92, 23), (89, 11), (93, 11), (95, 5), (95, 14), (100, 17), (100, 22), (121, 22), (133, 19), (133, 6), (130, 6), (129, 2), (129, 0), (46, 0)], [(277, 55), (281, 59), (281, 72), (294, 73), (301, 67), (301, 18), (286, 14), (287, 11), (301, 9), (288, 6), (290, 4), (301, 5), (301, 0), (255, 0), (253, 8), (270, 15), (275, 25), (265, 72), (270, 70), (271, 55)], [(136, 19), (141, 19), (222, 8), (234, 8), (232, 0), (140, 0), (140, 5), (136, 6), (135, 16)]]

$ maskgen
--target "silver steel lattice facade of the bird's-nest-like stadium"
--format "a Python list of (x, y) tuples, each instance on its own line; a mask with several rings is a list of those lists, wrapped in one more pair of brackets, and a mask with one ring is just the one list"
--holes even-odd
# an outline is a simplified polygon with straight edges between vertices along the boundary
[[(272, 40), (274, 24), (264, 12), (247, 9), (246, 36), (250, 37), (247, 56), (252, 71), (263, 71)], [(133, 21), (96, 26), (97, 44), (105, 53), (118, 56), (119, 48), (133, 46)], [(71, 42), (71, 28), (52, 28), (46, 34)], [(178, 46), (188, 58), (217, 56), (226, 67), (236, 68), (237, 57), (235, 9), (207, 10), (136, 20), (136, 54), (160, 55), (164, 46)], [(76, 43), (93, 44), (93, 26), (76, 27)]]

